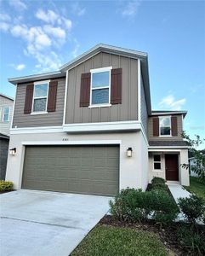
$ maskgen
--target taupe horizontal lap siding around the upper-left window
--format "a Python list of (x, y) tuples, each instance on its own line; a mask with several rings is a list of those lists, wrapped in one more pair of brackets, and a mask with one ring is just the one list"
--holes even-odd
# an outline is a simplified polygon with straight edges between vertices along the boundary
[(45, 114), (24, 113), (26, 85), (18, 84), (16, 91), (16, 102), (14, 107), (13, 127), (37, 127), (37, 126), (55, 126), (63, 124), (64, 97), (65, 97), (65, 79), (58, 79), (58, 91), (56, 111)]

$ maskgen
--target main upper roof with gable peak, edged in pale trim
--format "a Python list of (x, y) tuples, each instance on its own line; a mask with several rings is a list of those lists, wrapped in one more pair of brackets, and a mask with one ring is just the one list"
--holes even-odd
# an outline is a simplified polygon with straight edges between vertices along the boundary
[(93, 48), (89, 49), (88, 51), (84, 52), (82, 55), (79, 55), (77, 58), (73, 59), (72, 61), (67, 62), (65, 65), (60, 67), (59, 71), (51, 72), (51, 73), (42, 73), (36, 74), (21, 78), (13, 78), (9, 79), (9, 82), (12, 84), (18, 83), (26, 83), (32, 82), (37, 79), (52, 79), (52, 78), (59, 78), (65, 76), (65, 72), (73, 67), (76, 67), (81, 62), (88, 60), (90, 57), (100, 53), (111, 53), (115, 55), (122, 55), (125, 57), (130, 57), (133, 59), (140, 59), (141, 63), (141, 73), (143, 77), (143, 84), (145, 88), (145, 98), (147, 103), (147, 111), (151, 114), (151, 95), (150, 95), (150, 81), (149, 81), (149, 69), (148, 69), (148, 55), (145, 52), (137, 51), (134, 49), (125, 49), (121, 47), (111, 46), (108, 44), (97, 44)]

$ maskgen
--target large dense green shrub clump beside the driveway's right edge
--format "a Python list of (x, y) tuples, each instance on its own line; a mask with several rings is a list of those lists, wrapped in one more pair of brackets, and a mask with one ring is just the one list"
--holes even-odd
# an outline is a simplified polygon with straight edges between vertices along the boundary
[(119, 220), (141, 221), (151, 215), (161, 224), (169, 224), (179, 212), (174, 200), (162, 190), (122, 189), (110, 201), (110, 207), (113, 217)]

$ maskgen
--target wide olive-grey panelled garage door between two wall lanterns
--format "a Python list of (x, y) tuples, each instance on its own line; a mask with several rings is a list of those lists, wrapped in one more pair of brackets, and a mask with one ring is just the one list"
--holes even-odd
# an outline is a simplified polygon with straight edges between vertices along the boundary
[(116, 195), (117, 146), (26, 146), (22, 189)]

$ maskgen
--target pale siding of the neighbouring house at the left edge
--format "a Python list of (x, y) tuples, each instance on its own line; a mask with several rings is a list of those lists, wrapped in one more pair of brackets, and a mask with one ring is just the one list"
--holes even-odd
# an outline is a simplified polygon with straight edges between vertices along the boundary
[[(9, 121), (3, 122), (3, 108), (9, 107)], [(0, 95), (0, 133), (9, 135), (13, 114), (14, 101)]]

